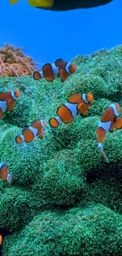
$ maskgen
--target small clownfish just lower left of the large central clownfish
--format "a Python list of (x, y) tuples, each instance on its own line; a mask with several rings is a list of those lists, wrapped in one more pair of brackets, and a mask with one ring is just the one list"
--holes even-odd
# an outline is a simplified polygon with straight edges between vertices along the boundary
[(17, 135), (15, 141), (17, 144), (31, 143), (35, 137), (43, 139), (43, 133), (46, 129), (46, 121), (35, 120), (28, 128), (23, 128), (22, 135)]

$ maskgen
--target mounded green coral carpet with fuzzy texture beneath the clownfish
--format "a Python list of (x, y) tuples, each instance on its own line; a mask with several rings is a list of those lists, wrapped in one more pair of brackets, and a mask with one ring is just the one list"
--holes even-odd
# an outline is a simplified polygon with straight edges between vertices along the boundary
[[(0, 121), (0, 159), (13, 174), (13, 184), (0, 180), (0, 227), (12, 232), (3, 256), (122, 255), (122, 133), (105, 137), (109, 163), (96, 141), (103, 111), (122, 106), (122, 46), (72, 62), (77, 71), (65, 83), (0, 77), (1, 92), (22, 88)], [(87, 117), (50, 128), (69, 95), (87, 92), (94, 95)], [(17, 145), (35, 119), (47, 122), (44, 138)]]

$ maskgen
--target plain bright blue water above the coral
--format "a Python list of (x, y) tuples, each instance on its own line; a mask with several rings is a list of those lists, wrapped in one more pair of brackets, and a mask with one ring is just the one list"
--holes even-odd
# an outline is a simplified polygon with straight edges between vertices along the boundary
[(51, 12), (1, 1), (0, 46), (22, 46), (26, 54), (42, 64), (56, 58), (69, 61), (77, 54), (122, 43), (122, 0), (95, 9)]

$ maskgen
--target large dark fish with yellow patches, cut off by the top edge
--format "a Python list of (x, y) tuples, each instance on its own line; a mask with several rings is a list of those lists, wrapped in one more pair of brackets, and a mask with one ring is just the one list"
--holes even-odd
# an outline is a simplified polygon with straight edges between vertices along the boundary
[[(9, 0), (9, 2), (14, 4), (19, 0)], [(30, 6), (52, 11), (92, 8), (104, 6), (110, 2), (113, 2), (113, 0), (28, 0)]]

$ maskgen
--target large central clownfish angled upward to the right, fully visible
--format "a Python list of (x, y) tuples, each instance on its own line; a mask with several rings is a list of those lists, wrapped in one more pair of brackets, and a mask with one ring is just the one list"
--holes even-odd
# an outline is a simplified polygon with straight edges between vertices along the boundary
[(86, 116), (93, 101), (94, 98), (91, 93), (71, 95), (68, 102), (57, 108), (57, 117), (50, 118), (50, 126), (57, 128), (61, 122), (71, 123), (78, 114)]

